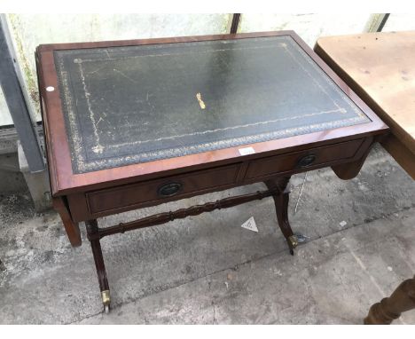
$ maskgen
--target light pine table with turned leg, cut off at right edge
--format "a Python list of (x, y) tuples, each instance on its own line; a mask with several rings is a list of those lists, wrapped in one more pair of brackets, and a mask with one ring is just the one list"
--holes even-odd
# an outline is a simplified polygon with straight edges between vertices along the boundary
[[(381, 145), (415, 179), (415, 31), (327, 36), (315, 50), (390, 127)], [(365, 324), (415, 308), (415, 277), (373, 304)]]

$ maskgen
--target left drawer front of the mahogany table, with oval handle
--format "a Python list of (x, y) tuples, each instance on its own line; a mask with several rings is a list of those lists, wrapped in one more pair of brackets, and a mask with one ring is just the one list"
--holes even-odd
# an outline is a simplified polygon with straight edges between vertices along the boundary
[(87, 193), (90, 214), (116, 209), (135, 208), (143, 203), (162, 203), (163, 199), (180, 199), (189, 193), (202, 193), (236, 182), (239, 164), (205, 169), (135, 185), (125, 185)]

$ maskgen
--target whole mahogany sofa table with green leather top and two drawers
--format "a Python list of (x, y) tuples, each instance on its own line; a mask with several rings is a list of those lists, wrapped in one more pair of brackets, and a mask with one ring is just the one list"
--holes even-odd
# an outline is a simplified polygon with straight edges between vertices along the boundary
[[(54, 207), (84, 221), (106, 311), (99, 240), (273, 197), (289, 249), (290, 176), (355, 177), (388, 127), (293, 31), (36, 49)], [(98, 217), (231, 187), (267, 190), (98, 228)]]

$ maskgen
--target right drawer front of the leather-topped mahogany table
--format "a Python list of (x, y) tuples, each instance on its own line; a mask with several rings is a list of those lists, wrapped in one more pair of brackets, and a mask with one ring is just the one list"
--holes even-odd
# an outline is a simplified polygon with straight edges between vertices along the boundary
[(313, 168), (325, 163), (353, 158), (363, 142), (364, 139), (357, 139), (253, 161), (248, 165), (245, 179), (267, 177), (282, 172)]

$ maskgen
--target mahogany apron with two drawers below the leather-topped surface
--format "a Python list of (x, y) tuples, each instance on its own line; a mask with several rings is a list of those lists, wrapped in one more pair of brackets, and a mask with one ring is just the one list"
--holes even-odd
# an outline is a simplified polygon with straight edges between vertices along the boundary
[[(289, 177), (304, 171), (342, 163), (347, 166), (347, 162), (355, 162), (367, 153), (372, 142), (372, 137), (356, 138), (329, 146), (267, 156), (178, 176), (161, 177), (130, 185), (69, 194), (67, 201), (74, 222), (81, 222), (200, 194), (254, 184), (270, 177)], [(172, 187), (178, 187), (177, 192), (171, 196), (161, 196), (161, 188), (170, 184), (174, 184), (171, 185)]]

